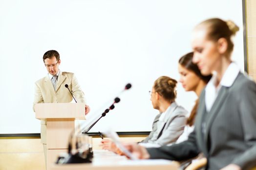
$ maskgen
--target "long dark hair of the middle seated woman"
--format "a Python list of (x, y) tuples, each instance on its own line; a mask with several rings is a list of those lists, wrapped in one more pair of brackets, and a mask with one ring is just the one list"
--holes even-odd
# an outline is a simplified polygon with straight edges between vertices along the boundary
[[(192, 59), (193, 59), (193, 52), (189, 52), (189, 53), (183, 55), (179, 59), (179, 64), (181, 66), (183, 66), (184, 68), (194, 72), (202, 81), (204, 81), (207, 84), (210, 81), (210, 79), (212, 78), (212, 75), (209, 75), (209, 76), (202, 75), (199, 68), (197, 67), (197, 65), (192, 62)], [(197, 106), (198, 106), (198, 99), (195, 101), (195, 104), (190, 113), (190, 117), (187, 120), (187, 124), (189, 126), (192, 126), (194, 124)]]

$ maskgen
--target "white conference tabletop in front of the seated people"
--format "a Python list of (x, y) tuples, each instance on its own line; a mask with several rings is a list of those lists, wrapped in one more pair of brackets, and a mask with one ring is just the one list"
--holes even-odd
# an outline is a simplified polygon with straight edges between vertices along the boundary
[(163, 159), (129, 160), (105, 151), (93, 152), (92, 163), (51, 165), (50, 170), (178, 170), (179, 163)]

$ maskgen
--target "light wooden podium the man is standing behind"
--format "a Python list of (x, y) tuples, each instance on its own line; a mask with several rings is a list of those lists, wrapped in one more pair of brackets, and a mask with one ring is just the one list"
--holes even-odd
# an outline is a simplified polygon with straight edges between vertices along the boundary
[(47, 170), (59, 153), (67, 152), (68, 138), (75, 119), (85, 119), (85, 103), (37, 103), (36, 119), (47, 121)]

